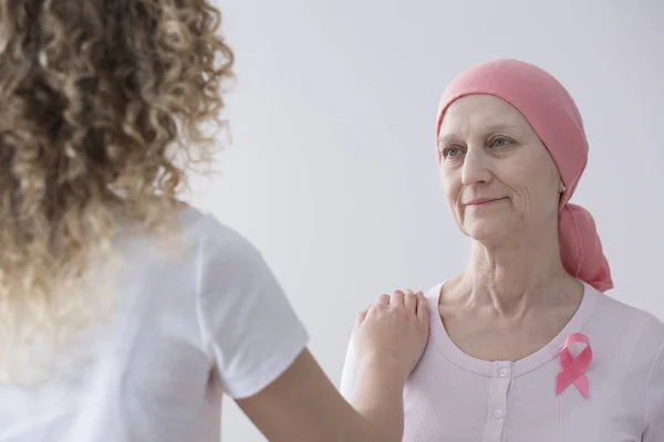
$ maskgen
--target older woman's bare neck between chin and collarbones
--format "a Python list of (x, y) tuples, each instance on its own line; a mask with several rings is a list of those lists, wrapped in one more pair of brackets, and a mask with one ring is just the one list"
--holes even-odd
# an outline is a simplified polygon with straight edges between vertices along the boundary
[(556, 229), (520, 232), (518, 238), (492, 244), (476, 242), (470, 264), (461, 276), (470, 302), (490, 305), (499, 314), (519, 315), (537, 304), (559, 304), (582, 293), (560, 260)]

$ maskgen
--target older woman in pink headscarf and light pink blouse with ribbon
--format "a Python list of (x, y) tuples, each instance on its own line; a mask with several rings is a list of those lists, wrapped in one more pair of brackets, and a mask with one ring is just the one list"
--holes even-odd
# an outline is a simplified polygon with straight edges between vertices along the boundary
[(588, 157), (568, 92), (523, 62), (475, 66), (447, 87), (436, 136), (473, 253), (428, 294), (439, 315), (405, 387), (404, 441), (664, 441), (664, 325), (603, 294), (594, 222), (568, 202)]

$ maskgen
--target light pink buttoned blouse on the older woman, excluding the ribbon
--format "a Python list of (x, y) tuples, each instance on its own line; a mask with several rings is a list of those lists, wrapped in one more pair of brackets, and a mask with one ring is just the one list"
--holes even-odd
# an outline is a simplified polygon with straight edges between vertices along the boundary
[[(436, 314), (442, 284), (427, 295), (429, 341), (404, 390), (405, 442), (663, 442), (664, 324), (585, 285), (564, 329), (518, 361), (486, 361), (461, 351)], [(568, 336), (590, 340), (584, 373), (589, 398), (575, 385), (556, 394)], [(570, 347), (575, 357), (583, 346)], [(352, 345), (341, 391), (353, 389)]]

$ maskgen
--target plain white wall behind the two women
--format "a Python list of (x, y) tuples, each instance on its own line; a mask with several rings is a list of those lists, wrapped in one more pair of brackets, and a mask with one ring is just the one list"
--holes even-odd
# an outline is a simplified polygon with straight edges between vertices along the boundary
[[(660, 0), (219, 0), (237, 54), (234, 145), (195, 201), (264, 252), (336, 382), (355, 313), (466, 263), (438, 185), (434, 118), (460, 70), (538, 64), (584, 116), (573, 202), (594, 214), (612, 296), (664, 319)], [(261, 441), (231, 401), (226, 441)]]

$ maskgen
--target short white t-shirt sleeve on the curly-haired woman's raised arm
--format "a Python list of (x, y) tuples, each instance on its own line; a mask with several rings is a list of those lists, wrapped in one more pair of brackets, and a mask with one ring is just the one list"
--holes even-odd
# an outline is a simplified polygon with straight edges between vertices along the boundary
[(224, 389), (253, 396), (302, 352), (309, 336), (261, 254), (235, 231), (208, 222), (199, 246), (199, 319)]

